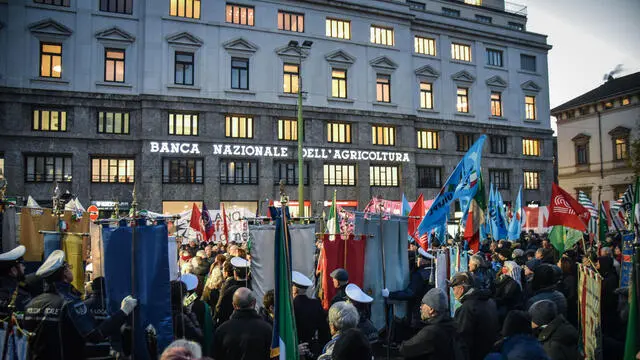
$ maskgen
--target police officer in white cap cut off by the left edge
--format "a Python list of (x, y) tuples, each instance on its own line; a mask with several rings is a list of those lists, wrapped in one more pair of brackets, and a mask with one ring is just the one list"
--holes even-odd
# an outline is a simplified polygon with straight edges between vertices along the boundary
[(0, 319), (9, 316), (10, 306), (13, 307), (13, 311), (22, 313), (31, 301), (31, 295), (22, 283), (25, 279), (22, 263), (25, 251), (25, 247), (20, 245), (0, 254)]

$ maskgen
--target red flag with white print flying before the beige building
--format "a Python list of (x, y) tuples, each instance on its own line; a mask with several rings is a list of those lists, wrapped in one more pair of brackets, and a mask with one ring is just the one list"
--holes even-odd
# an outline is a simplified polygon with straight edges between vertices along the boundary
[(589, 221), (589, 210), (564, 191), (556, 183), (551, 190), (549, 203), (549, 226), (562, 225), (579, 231), (587, 231), (585, 224)]

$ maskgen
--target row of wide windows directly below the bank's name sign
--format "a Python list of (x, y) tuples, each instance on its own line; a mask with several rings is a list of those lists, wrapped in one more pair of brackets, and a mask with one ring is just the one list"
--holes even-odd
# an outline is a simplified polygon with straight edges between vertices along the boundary
[[(71, 182), (70, 155), (28, 155), (26, 161), (27, 182)], [(220, 184), (256, 185), (259, 182), (257, 160), (220, 160)], [(417, 187), (442, 187), (443, 168), (417, 167)], [(323, 183), (332, 186), (355, 186), (356, 165), (324, 164)], [(135, 160), (132, 158), (94, 157), (91, 159), (92, 183), (133, 183)], [(309, 164), (304, 164), (304, 184), (309, 185)], [(510, 170), (489, 171), (489, 178), (498, 189), (510, 188)], [(369, 185), (398, 187), (401, 173), (399, 166), (371, 165)], [(287, 185), (298, 184), (298, 164), (295, 162), (274, 163), (274, 184), (284, 181)], [(540, 172), (523, 172), (524, 188), (539, 189)], [(201, 158), (164, 158), (162, 160), (162, 182), (167, 184), (204, 183), (204, 160)]]

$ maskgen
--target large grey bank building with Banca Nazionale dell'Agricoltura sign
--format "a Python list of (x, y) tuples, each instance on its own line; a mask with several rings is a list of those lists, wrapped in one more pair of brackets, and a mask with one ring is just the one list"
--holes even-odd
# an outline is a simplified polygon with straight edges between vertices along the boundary
[[(501, 0), (0, 1), (0, 161), (12, 195), (264, 209), (296, 184), (432, 198), (479, 134), (485, 182), (547, 203), (546, 36)], [(295, 40), (313, 42), (298, 52)], [(488, 191), (488, 190), (487, 190)]]

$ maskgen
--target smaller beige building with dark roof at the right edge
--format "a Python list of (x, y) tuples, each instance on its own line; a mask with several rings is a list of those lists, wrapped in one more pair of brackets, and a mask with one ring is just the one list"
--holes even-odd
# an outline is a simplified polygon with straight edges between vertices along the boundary
[(634, 183), (629, 152), (638, 138), (640, 72), (609, 78), (551, 114), (558, 120), (560, 186), (594, 203), (619, 199)]

